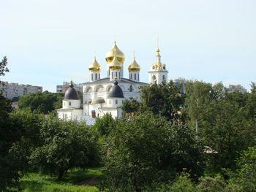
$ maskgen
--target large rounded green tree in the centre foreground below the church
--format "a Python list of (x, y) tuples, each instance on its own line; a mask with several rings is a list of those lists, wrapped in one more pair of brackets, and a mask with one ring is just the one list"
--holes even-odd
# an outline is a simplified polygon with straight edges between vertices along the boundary
[(107, 140), (102, 190), (143, 191), (154, 182), (174, 179), (184, 168), (200, 174), (200, 147), (186, 126), (152, 114), (116, 123)]

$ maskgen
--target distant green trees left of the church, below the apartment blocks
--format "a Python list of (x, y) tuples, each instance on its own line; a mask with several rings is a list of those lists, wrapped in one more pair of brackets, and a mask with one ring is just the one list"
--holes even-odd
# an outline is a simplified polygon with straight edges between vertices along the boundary
[(18, 106), (21, 110), (29, 108), (32, 112), (48, 114), (53, 110), (61, 108), (61, 101), (64, 97), (63, 93), (29, 93), (22, 96), (18, 101)]

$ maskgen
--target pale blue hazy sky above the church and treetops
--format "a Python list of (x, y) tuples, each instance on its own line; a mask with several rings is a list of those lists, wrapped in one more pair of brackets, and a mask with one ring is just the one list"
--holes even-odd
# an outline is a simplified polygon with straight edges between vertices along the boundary
[(126, 57), (133, 52), (140, 80), (156, 60), (157, 37), (168, 79), (183, 77), (224, 85), (256, 82), (255, 0), (0, 0), (0, 59), (10, 73), (1, 81), (39, 85), (56, 92), (71, 79), (89, 80), (97, 56), (114, 39)]

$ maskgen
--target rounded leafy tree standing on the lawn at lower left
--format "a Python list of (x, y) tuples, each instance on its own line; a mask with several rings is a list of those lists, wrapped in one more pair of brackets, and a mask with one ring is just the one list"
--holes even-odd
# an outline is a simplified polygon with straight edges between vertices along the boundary
[(97, 141), (86, 123), (50, 117), (42, 122), (42, 145), (31, 153), (30, 163), (61, 180), (68, 169), (86, 168), (99, 162)]

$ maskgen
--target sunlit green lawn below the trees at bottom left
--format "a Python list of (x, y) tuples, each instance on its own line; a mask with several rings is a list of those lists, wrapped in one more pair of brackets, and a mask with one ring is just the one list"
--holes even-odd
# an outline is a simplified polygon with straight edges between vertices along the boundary
[[(59, 181), (46, 174), (29, 173), (20, 179), (23, 192), (96, 192), (95, 183), (99, 180), (101, 169), (73, 169)], [(14, 190), (15, 191), (15, 190)]]

